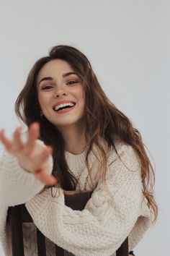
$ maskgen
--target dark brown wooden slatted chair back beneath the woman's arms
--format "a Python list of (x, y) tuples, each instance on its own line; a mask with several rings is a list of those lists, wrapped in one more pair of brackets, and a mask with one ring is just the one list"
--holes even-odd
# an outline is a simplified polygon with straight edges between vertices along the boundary
[[(65, 195), (65, 203), (73, 210), (83, 210), (92, 192), (83, 192), (76, 195)], [(9, 207), (7, 222), (12, 234), (12, 256), (24, 256), (24, 242), (22, 223), (32, 223), (32, 218), (25, 205)], [(37, 256), (46, 256), (45, 236), (37, 229)], [(55, 255), (64, 256), (65, 249), (55, 244)], [(116, 252), (117, 256), (128, 256), (128, 237)]]

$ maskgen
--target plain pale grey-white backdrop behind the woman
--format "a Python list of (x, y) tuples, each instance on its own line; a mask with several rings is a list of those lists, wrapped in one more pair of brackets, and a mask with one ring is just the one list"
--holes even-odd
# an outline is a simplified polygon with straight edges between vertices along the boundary
[(83, 51), (156, 164), (158, 221), (135, 254), (168, 255), (170, 1), (0, 0), (0, 5), (0, 128), (10, 136), (19, 125), (14, 101), (38, 58), (61, 43)]

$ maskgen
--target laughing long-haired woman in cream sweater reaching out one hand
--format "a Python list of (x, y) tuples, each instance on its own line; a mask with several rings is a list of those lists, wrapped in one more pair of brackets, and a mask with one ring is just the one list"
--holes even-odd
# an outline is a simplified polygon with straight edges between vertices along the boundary
[[(86, 56), (53, 47), (32, 67), (15, 109), (29, 132), (23, 137), (19, 127), (12, 140), (0, 132), (6, 255), (6, 212), (22, 203), (40, 231), (73, 255), (115, 255), (127, 236), (132, 250), (156, 221), (153, 167), (140, 132), (104, 94)], [(84, 210), (66, 207), (64, 194), (86, 190), (94, 192)], [(24, 234), (34, 237), (34, 230), (24, 226)], [(34, 255), (35, 243), (25, 244)]]

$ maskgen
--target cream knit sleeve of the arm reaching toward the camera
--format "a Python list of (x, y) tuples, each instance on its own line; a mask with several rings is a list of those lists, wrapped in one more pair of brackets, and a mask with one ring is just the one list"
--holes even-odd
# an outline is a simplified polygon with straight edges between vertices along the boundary
[[(38, 140), (43, 145), (43, 142)], [(53, 158), (49, 160), (51, 174)], [(6, 150), (0, 158), (0, 205), (14, 206), (27, 202), (45, 186), (39, 179), (19, 166), (18, 160)]]

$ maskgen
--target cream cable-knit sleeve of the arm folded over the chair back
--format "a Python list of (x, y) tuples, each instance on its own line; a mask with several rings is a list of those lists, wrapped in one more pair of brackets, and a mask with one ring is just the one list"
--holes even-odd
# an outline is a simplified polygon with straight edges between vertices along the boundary
[(27, 202), (27, 210), (45, 236), (80, 256), (112, 255), (120, 247), (140, 213), (142, 184), (135, 150), (125, 145), (119, 155), (122, 161), (118, 157), (109, 161), (107, 187), (99, 180), (84, 210), (68, 208), (62, 189), (58, 197), (51, 197), (46, 189)]

